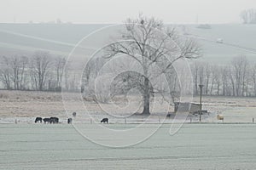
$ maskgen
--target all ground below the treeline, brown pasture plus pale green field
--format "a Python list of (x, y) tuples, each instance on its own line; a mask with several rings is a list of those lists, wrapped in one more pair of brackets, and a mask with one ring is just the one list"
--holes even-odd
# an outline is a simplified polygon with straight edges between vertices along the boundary
[[(77, 110), (79, 105), (73, 95), (70, 94), (71, 99), (66, 103), (70, 109), (66, 113), (59, 93), (0, 91), (0, 169), (241, 170), (256, 167), (256, 123), (251, 123), (256, 118), (255, 98), (203, 97), (203, 109), (210, 111), (202, 117), (207, 123), (185, 123), (172, 136), (169, 130), (173, 119), (166, 119), (160, 105), (150, 118), (108, 116), (110, 123), (103, 126), (109, 129), (131, 129), (147, 122), (142, 127), (144, 131), (130, 134), (129, 139), (143, 136), (142, 132), (154, 132), (163, 123), (143, 143), (109, 148), (85, 139), (76, 131), (75, 127), (79, 127), (80, 133), (94, 134), (97, 142), (121, 140), (106, 138), (106, 133), (96, 129), (96, 123), (106, 116), (99, 105), (84, 101), (89, 118), (84, 108)], [(198, 97), (194, 102), (198, 102)], [(102, 107), (111, 108), (111, 105)], [(74, 127), (67, 124), (67, 116), (73, 111), (77, 112)], [(229, 123), (216, 123), (217, 114), (224, 115), (224, 122)], [(35, 124), (35, 116), (58, 116), (61, 123)], [(198, 116), (189, 116), (185, 122), (190, 122), (190, 118), (198, 122)]]

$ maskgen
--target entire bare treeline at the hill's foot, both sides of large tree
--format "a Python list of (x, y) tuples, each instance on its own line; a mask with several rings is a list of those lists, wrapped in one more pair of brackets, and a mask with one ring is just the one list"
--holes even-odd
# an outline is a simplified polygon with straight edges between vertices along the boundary
[[(0, 82), (3, 89), (61, 91), (62, 88), (67, 91), (90, 91), (90, 83), (83, 83), (82, 87), (75, 71), (68, 69), (64, 57), (37, 51), (29, 57), (2, 56), (0, 59)], [(97, 59), (86, 67), (83, 82), (96, 77), (92, 73), (97, 70), (96, 67), (102, 66), (101, 63), (101, 59)], [(190, 67), (195, 95), (200, 93), (199, 84), (202, 83), (204, 95), (256, 96), (256, 63), (249, 62), (246, 56), (234, 57), (227, 65), (212, 65), (195, 59)], [(180, 85), (177, 82), (177, 76), (173, 74), (172, 93), (179, 93)]]

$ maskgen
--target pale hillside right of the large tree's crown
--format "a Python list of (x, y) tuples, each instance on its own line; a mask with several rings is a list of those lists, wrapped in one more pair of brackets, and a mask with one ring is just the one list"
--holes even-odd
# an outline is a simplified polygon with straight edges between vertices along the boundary
[[(226, 63), (245, 54), (256, 61), (256, 25), (211, 25), (210, 29), (187, 26), (187, 31), (199, 38), (205, 60)], [(217, 42), (218, 39), (223, 42)]]

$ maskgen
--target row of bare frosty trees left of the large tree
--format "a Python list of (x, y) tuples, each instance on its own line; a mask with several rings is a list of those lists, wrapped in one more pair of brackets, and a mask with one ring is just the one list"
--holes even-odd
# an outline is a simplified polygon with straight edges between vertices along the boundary
[[(67, 68), (66, 59), (48, 52), (36, 51), (32, 56), (0, 57), (1, 88), (8, 90), (61, 91), (78, 90), (74, 73)], [(62, 77), (65, 77), (62, 84)]]

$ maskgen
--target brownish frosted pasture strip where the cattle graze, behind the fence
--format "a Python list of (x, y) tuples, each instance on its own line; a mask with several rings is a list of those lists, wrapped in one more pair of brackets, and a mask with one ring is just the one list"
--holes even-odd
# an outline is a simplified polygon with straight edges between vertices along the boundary
[[(75, 94), (68, 94), (70, 99), (67, 114), (71, 116), (73, 111), (77, 112), (77, 121), (90, 123), (90, 119), (84, 118), (84, 107), (79, 107)], [(199, 97), (195, 96), (194, 102), (198, 103)], [(102, 108), (93, 102), (84, 100), (87, 111), (99, 122), (103, 114)], [(113, 105), (102, 104), (104, 108), (111, 111)], [(113, 110), (113, 109), (112, 109)], [(157, 105), (155, 113), (148, 122), (163, 122), (166, 118), (166, 108)], [(252, 122), (256, 120), (256, 98), (233, 98), (233, 97), (209, 97), (203, 96), (203, 110), (209, 111), (209, 116), (203, 117), (203, 122), (219, 122), (218, 114), (224, 115), (224, 122)], [(113, 110), (114, 111), (114, 110)], [(169, 108), (173, 111), (173, 107)], [(138, 111), (139, 112), (139, 111)], [(0, 123), (26, 122), (32, 123), (36, 116), (50, 117), (58, 116), (61, 122), (67, 122), (67, 114), (61, 99), (61, 93), (47, 92), (24, 92), (0, 90)], [(127, 118), (127, 122), (142, 122), (140, 117)], [(166, 122), (172, 122), (172, 119)], [(112, 118), (111, 122), (124, 123), (125, 118)], [(190, 117), (187, 120), (190, 122)], [(198, 122), (198, 116), (192, 117), (192, 122)]]

